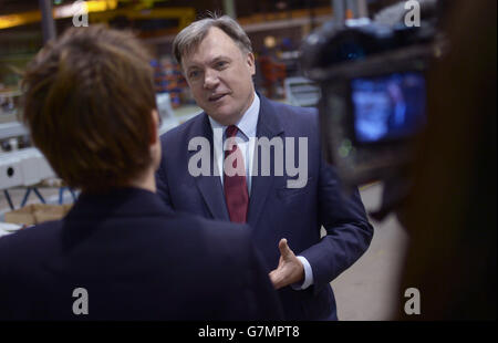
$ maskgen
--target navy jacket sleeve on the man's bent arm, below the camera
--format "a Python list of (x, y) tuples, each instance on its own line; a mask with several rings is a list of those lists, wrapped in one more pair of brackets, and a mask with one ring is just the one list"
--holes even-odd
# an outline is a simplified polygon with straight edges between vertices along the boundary
[(373, 237), (357, 188), (346, 193), (334, 167), (322, 156), (319, 160), (319, 220), (326, 236), (300, 253), (311, 264), (315, 293), (351, 267)]

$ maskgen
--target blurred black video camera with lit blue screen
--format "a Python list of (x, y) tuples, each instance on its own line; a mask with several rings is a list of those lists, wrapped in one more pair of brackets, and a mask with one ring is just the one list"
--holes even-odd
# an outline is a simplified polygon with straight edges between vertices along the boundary
[(321, 87), (325, 159), (346, 187), (385, 181), (380, 219), (408, 191), (413, 138), (427, 122), (426, 74), (444, 51), (427, 19), (419, 27), (331, 21), (302, 46), (304, 73)]

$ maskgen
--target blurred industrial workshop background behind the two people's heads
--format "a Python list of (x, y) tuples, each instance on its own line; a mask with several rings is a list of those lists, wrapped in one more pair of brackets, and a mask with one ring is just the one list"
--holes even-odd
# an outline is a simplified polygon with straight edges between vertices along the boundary
[[(22, 115), (23, 70), (44, 42), (73, 25), (105, 23), (132, 30), (153, 55), (160, 133), (201, 110), (195, 104), (179, 65), (172, 55), (175, 35), (208, 13), (229, 14), (252, 41), (256, 89), (298, 106), (315, 106), (320, 89), (302, 77), (303, 40), (333, 15), (334, 0), (0, 0), (0, 214), (15, 207), (62, 204), (76, 194), (63, 188), (43, 156), (31, 145)], [(346, 19), (373, 17), (393, 0), (345, 0)], [(48, 183), (48, 185), (46, 185)], [(31, 187), (37, 185), (38, 187)], [(42, 188), (48, 187), (46, 190)], [(54, 188), (54, 186), (56, 186)], [(18, 188), (21, 187), (21, 190)], [(12, 197), (15, 199), (11, 199)], [(54, 198), (53, 196), (58, 196)]]

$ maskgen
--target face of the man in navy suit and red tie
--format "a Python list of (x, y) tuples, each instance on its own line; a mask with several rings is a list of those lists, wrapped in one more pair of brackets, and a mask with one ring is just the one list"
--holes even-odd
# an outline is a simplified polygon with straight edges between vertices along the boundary
[(218, 28), (211, 28), (181, 66), (197, 104), (222, 125), (236, 124), (249, 108), (255, 87), (255, 56), (243, 53)]

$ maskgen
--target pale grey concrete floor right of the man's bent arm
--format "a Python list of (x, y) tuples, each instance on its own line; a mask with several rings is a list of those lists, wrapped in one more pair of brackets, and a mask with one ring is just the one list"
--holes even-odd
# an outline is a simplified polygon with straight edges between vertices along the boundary
[[(381, 195), (382, 185), (361, 190), (367, 211), (378, 208)], [(390, 320), (404, 299), (397, 285), (408, 236), (394, 215), (371, 224), (374, 236), (369, 250), (331, 282), (342, 321)]]

